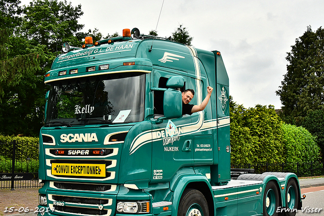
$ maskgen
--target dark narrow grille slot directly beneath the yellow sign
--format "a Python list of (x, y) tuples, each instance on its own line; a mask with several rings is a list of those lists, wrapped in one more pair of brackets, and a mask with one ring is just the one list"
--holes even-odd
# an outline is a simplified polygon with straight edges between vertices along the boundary
[(61, 182), (54, 182), (54, 186), (58, 189), (78, 191), (109, 191), (111, 189), (111, 185), (77, 184)]

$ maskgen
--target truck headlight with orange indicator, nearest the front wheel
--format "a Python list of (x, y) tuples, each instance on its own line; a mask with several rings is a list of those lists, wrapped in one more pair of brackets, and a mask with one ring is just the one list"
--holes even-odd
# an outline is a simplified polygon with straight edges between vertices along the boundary
[(117, 202), (117, 211), (120, 213), (148, 213), (150, 211), (150, 202)]

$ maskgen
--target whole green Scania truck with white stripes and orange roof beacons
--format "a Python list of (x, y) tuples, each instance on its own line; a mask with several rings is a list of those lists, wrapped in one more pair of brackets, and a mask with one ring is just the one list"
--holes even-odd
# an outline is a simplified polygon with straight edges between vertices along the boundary
[[(294, 173), (231, 179), (229, 81), (218, 51), (124, 29), (63, 44), (45, 75), (39, 215), (295, 215)], [(204, 111), (182, 115), (181, 92)]]

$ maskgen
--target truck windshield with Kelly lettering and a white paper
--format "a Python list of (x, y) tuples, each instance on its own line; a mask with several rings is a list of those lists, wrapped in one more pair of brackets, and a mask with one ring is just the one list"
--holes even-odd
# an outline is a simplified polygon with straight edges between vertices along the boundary
[(144, 120), (145, 75), (123, 73), (55, 82), (45, 126)]

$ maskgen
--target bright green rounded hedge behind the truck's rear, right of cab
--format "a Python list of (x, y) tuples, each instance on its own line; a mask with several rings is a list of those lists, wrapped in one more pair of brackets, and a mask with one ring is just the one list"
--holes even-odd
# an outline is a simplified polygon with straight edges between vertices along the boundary
[(230, 101), (230, 120), (232, 164), (320, 160), (316, 137), (282, 122), (271, 105), (245, 109)]

